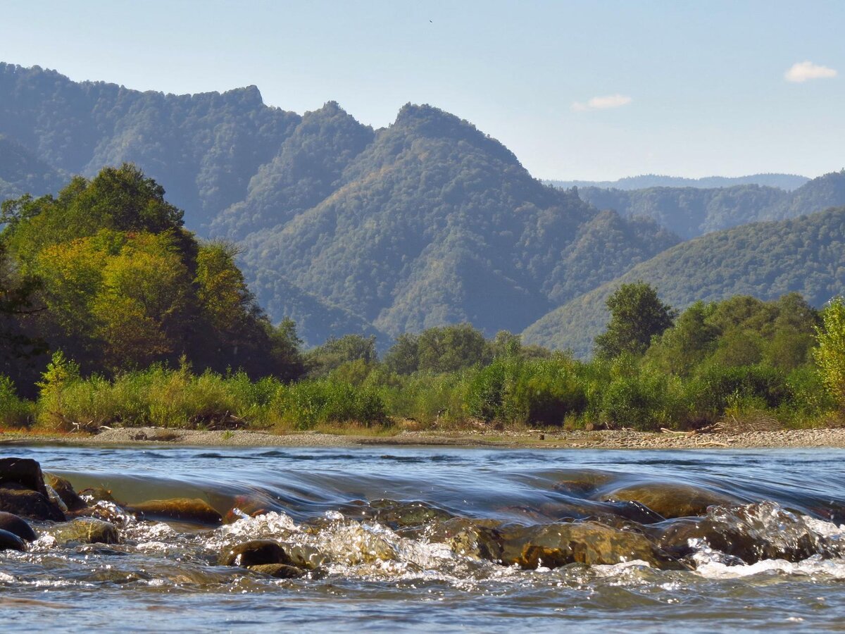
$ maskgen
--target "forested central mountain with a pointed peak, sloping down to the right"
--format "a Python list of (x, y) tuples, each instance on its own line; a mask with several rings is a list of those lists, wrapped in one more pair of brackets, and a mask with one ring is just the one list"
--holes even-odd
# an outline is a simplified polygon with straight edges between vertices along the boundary
[(678, 241), (543, 185), (504, 145), (430, 106), (403, 107), (335, 185), (249, 234), (247, 271), (280, 272), (390, 335), (460, 321), (521, 331)]

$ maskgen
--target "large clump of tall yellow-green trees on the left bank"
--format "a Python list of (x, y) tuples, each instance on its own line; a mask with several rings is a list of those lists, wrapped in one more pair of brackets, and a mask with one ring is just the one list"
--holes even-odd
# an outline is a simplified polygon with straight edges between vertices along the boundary
[[(114, 375), (187, 355), (200, 369), (241, 368), (292, 380), (303, 373), (292, 323), (274, 329), (226, 243), (197, 243), (182, 212), (138, 168), (74, 178), (57, 196), (3, 207), (0, 328), (9, 356), (43, 349), (73, 357), (82, 374)], [(6, 255), (8, 253), (8, 256)], [(30, 307), (33, 307), (30, 309)], [(37, 308), (35, 308), (37, 307)], [(44, 358), (4, 371), (24, 385)]]

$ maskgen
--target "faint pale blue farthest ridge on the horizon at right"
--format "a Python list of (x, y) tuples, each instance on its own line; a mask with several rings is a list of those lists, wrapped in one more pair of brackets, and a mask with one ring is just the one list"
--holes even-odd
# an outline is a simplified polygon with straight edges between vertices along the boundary
[(678, 176), (660, 176), (644, 174), (629, 176), (616, 181), (560, 181), (548, 180), (546, 183), (562, 189), (571, 187), (597, 187), (601, 189), (648, 189), (651, 187), (696, 187), (713, 189), (717, 187), (733, 187), (734, 185), (760, 185), (761, 187), (777, 187), (792, 191), (806, 183), (809, 178), (797, 174), (752, 174), (751, 176), (706, 176), (704, 178), (682, 178)]

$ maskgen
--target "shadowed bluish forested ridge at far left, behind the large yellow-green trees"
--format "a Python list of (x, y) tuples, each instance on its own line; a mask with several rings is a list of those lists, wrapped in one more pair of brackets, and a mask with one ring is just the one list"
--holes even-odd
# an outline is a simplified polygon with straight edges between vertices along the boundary
[(199, 233), (246, 197), (301, 120), (265, 106), (255, 86), (165, 95), (0, 63), (0, 134), (53, 169), (87, 177), (132, 161), (166, 186)]

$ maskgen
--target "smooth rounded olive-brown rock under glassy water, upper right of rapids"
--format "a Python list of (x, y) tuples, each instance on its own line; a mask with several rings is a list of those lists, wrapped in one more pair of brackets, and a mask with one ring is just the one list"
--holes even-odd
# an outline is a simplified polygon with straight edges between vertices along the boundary
[(730, 495), (722, 495), (690, 484), (671, 483), (632, 484), (602, 495), (602, 500), (639, 502), (667, 519), (701, 516), (708, 506), (742, 504), (742, 500)]

